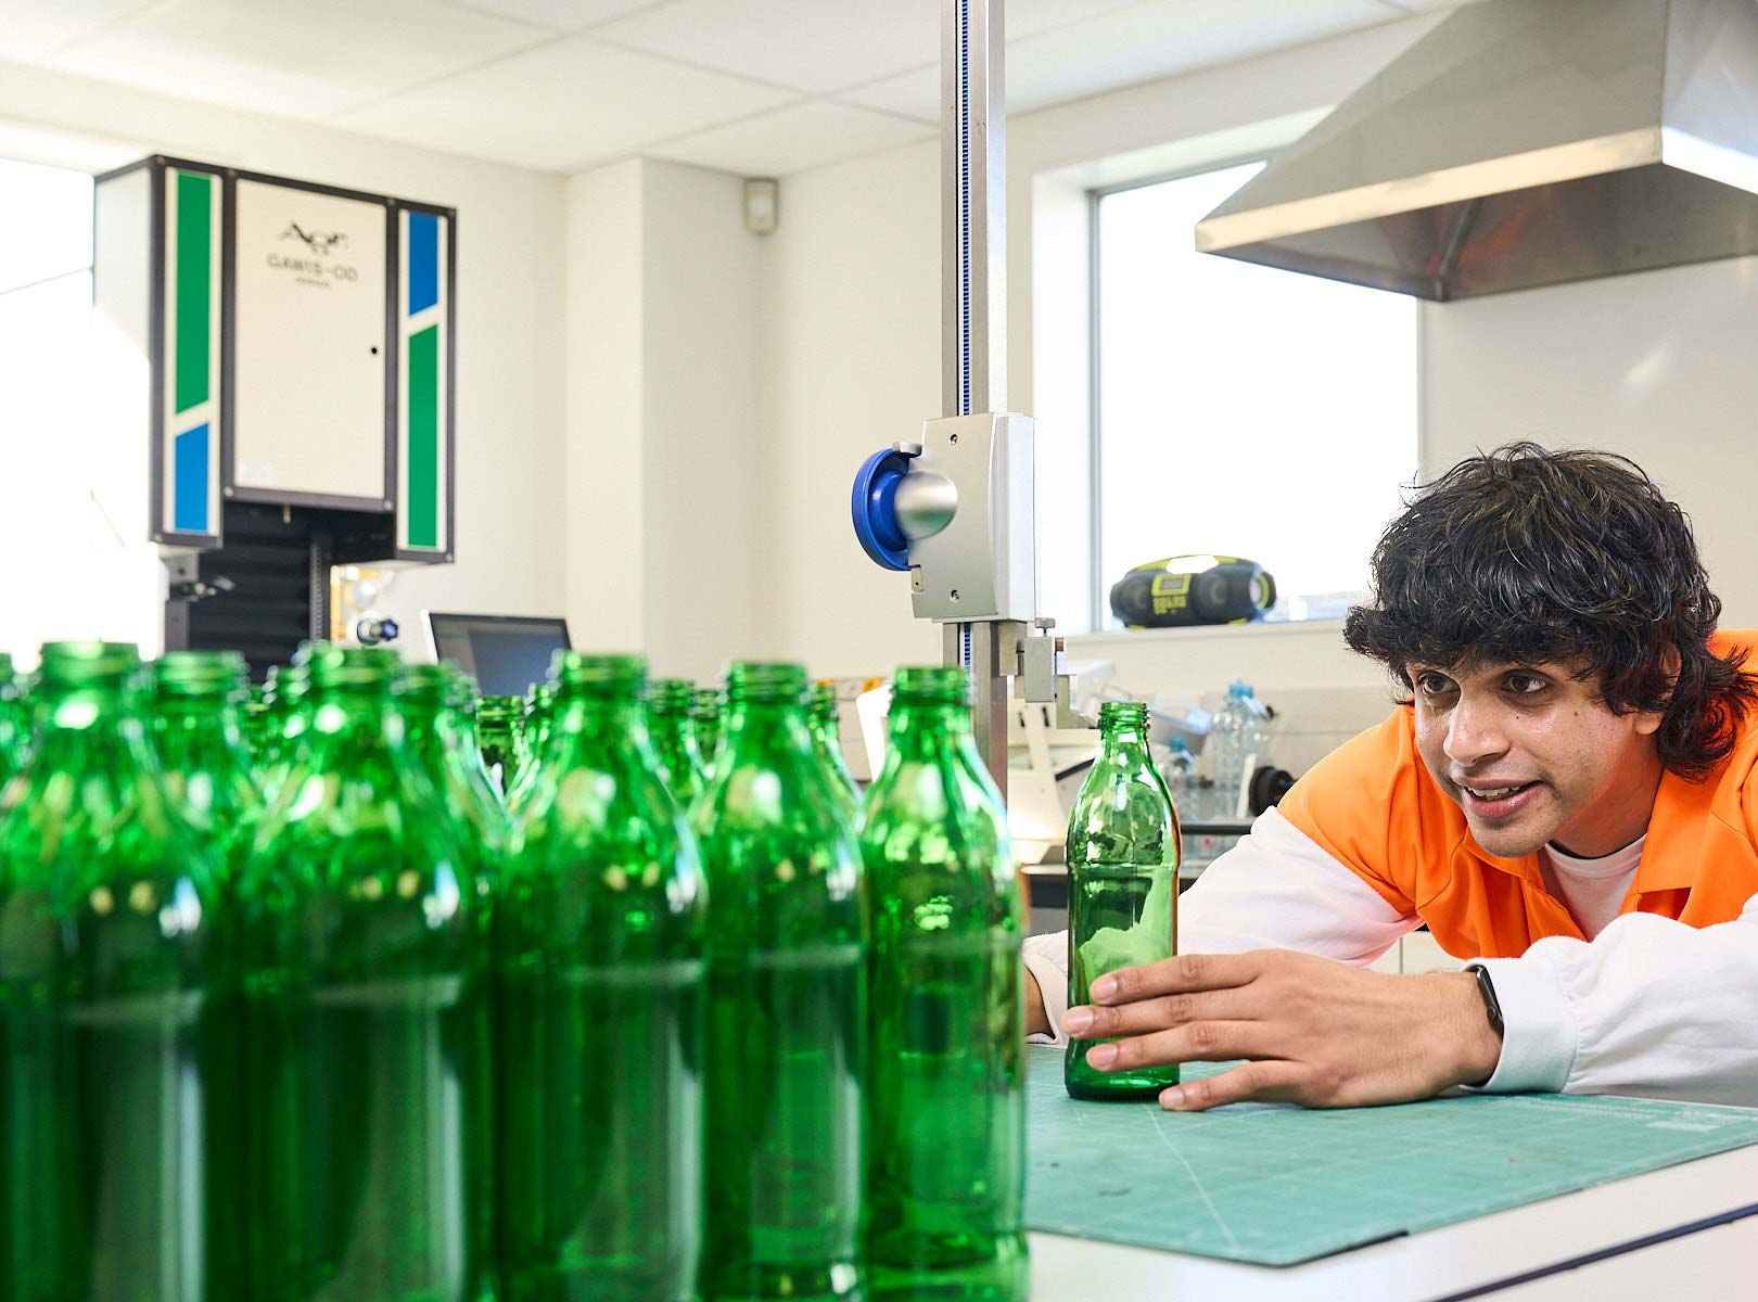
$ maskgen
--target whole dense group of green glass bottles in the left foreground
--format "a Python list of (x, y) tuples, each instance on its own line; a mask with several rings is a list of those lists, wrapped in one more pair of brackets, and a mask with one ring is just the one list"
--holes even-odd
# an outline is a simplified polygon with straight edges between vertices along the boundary
[[(512, 828), (454, 669), (304, 648), (276, 673), (265, 812), (241, 662), (165, 657), (146, 698), (134, 673), (130, 648), (46, 648), (42, 763), (0, 824), (19, 1297), (1023, 1297), (1021, 926), (960, 671), (898, 675), (860, 843), (798, 666), (735, 666), (694, 826), (647, 731), (680, 691), (643, 694), (633, 657), (559, 657)], [(93, 766), (107, 785), (74, 780)], [(79, 873), (102, 889), (69, 894)], [(127, 900), (195, 958), (153, 986), (127, 931), (118, 970), (149, 989), (93, 1017), (74, 996), (105, 951), (65, 898)], [(69, 1049), (88, 1038), (97, 1067)], [(167, 1054), (190, 1067), (149, 1079)], [(102, 1089), (114, 1126), (54, 1102)], [(142, 1109), (160, 1123), (118, 1139)], [(46, 1165), (47, 1198), (23, 1179)], [(165, 1188), (156, 1237), (120, 1237)]]

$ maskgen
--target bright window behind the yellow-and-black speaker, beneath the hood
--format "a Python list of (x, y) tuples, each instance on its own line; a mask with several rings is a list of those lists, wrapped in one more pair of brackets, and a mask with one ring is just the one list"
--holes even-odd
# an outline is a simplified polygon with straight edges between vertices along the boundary
[(1417, 304), (1194, 250), (1260, 162), (1095, 200), (1095, 629), (1157, 557), (1250, 557), (1334, 618), (1417, 471)]

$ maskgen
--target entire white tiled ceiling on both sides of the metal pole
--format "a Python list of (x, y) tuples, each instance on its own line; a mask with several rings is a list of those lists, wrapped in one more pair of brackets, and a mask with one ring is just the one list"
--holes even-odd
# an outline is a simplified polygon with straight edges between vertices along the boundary
[[(1013, 112), (1456, 0), (1009, 0)], [(0, 60), (556, 172), (935, 134), (941, 0), (0, 0)]]

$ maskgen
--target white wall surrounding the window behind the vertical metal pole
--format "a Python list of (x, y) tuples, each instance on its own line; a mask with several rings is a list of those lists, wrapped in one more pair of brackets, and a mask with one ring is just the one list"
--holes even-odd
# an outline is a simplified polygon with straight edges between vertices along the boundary
[[(1085, 190), (1122, 179), (1120, 169), (1139, 176), (1238, 156), (1264, 144), (1266, 123), (1273, 137), (1292, 139), (1431, 23), (1392, 23), (1007, 123), (1007, 401), (1041, 420), (1046, 613), (1083, 610), (1090, 590)], [(846, 508), (861, 459), (912, 438), (941, 409), (939, 223), (937, 142), (782, 183), (781, 228), (765, 248), (765, 466), (779, 578), (768, 613), (775, 652), (814, 673), (883, 675), (939, 657), (935, 631), (911, 617), (907, 582), (860, 552)], [(1034, 357), (1035, 337), (1048, 355)], [(1173, 696), (1194, 698), (1241, 673), (1255, 675), (1266, 699), (1278, 685), (1352, 687), (1362, 696), (1345, 699), (1366, 705), (1338, 724), (1343, 734), (1385, 701), (1378, 669), (1355, 662), (1336, 626), (1243, 640), (1206, 631), (1076, 638), (1071, 654), (1111, 659), (1120, 684)]]

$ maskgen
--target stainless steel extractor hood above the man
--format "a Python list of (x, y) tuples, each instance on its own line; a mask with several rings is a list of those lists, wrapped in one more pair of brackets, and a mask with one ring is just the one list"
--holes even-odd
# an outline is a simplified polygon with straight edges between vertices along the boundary
[(1197, 250), (1422, 299), (1758, 253), (1758, 0), (1466, 5)]

